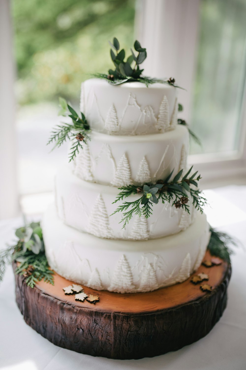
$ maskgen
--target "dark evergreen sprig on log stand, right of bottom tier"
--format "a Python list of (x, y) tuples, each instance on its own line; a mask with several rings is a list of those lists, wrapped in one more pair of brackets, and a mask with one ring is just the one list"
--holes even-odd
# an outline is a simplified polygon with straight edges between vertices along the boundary
[(228, 263), (231, 263), (230, 255), (233, 252), (231, 245), (237, 246), (238, 242), (225, 232), (216, 231), (210, 226), (211, 238), (208, 244), (208, 250), (212, 256), (220, 257)]

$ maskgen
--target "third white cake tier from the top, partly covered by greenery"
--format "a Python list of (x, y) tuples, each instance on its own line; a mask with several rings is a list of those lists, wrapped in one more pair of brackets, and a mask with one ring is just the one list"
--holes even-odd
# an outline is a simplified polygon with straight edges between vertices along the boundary
[[(83, 181), (73, 175), (69, 165), (63, 166), (56, 175), (56, 192), (59, 217), (62, 220), (65, 219), (67, 225), (102, 238), (140, 239), (140, 233), (136, 236), (138, 227), (136, 222), (140, 221), (142, 239), (161, 238), (180, 232), (182, 229), (180, 219), (183, 210), (176, 209), (170, 203), (159, 202), (153, 204), (153, 214), (145, 219), (146, 221), (138, 220), (139, 216), (134, 215), (131, 222), (122, 230), (122, 223), (119, 223), (122, 215), (120, 213), (112, 215), (115, 209), (123, 203), (123, 201), (118, 201), (113, 204), (119, 193), (118, 188)], [(79, 202), (76, 201), (75, 196)], [(138, 198), (138, 194), (131, 195), (127, 201), (135, 201)], [(193, 212), (192, 205), (190, 205), (190, 212)], [(194, 221), (191, 218), (189, 220), (190, 223)]]

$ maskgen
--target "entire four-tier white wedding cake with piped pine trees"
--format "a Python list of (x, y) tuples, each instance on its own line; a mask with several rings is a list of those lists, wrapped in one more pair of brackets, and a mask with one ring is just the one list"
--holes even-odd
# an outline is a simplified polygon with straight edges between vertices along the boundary
[(124, 229), (122, 214), (111, 215), (122, 204), (113, 203), (119, 187), (186, 170), (188, 130), (177, 125), (176, 88), (91, 79), (82, 84), (80, 109), (91, 141), (56, 176), (56, 207), (42, 225), (49, 265), (67, 279), (120, 293), (186, 280), (209, 241), (206, 216), (191, 199), (190, 213), (159, 202), (148, 219), (134, 215)]

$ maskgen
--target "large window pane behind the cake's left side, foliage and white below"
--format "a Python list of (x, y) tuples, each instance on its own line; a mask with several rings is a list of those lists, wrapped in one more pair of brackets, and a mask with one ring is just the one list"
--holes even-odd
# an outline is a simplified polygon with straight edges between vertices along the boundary
[(18, 79), (18, 172), (21, 194), (51, 191), (67, 147), (49, 154), (58, 124), (58, 97), (79, 107), (80, 84), (111, 67), (108, 40), (129, 48), (134, 39), (132, 0), (13, 0)]

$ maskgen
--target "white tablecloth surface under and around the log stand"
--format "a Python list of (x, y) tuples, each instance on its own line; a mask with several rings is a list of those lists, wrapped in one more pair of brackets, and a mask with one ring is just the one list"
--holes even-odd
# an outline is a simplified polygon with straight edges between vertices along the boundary
[[(15, 303), (10, 267), (0, 285), (0, 369), (4, 370), (245, 370), (246, 369), (246, 186), (205, 191), (212, 226), (236, 236), (242, 245), (232, 256), (228, 305), (214, 329), (179, 351), (141, 360), (110, 360), (59, 348), (23, 320)], [(11, 242), (21, 219), (0, 222), (0, 249)]]

